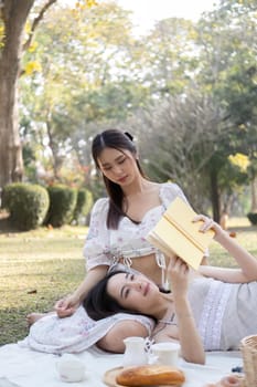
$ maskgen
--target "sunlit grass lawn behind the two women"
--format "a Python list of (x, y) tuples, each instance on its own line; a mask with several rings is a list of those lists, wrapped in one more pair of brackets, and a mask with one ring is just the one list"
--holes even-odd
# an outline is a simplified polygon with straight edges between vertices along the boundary
[[(257, 227), (250, 227), (247, 219), (231, 219), (228, 226), (239, 243), (257, 257)], [(52, 310), (56, 300), (83, 280), (86, 232), (85, 227), (0, 231), (0, 345), (23, 338), (28, 313)], [(212, 264), (234, 265), (216, 242), (210, 252)]]

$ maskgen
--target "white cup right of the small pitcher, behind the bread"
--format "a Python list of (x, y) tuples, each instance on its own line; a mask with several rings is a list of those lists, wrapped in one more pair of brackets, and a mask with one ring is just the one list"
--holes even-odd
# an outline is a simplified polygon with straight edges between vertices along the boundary
[(180, 356), (180, 344), (172, 342), (157, 343), (151, 346), (156, 364), (176, 366)]

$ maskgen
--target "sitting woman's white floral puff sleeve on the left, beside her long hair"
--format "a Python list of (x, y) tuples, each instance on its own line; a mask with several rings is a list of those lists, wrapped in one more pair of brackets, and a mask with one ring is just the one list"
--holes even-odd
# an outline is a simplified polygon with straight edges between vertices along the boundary
[(109, 199), (98, 199), (92, 210), (88, 234), (83, 249), (86, 259), (86, 270), (98, 265), (110, 265), (109, 230), (106, 219), (109, 208)]

